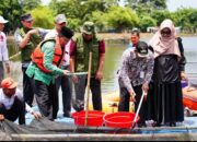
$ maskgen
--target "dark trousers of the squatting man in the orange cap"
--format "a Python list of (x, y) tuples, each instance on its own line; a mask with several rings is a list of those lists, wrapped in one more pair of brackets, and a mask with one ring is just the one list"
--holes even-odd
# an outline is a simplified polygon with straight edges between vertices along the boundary
[(1, 104), (0, 114), (4, 115), (4, 118), (10, 121), (15, 121), (19, 118), (19, 123), (25, 125), (25, 103), (18, 97), (14, 98), (10, 109), (5, 109), (4, 105)]

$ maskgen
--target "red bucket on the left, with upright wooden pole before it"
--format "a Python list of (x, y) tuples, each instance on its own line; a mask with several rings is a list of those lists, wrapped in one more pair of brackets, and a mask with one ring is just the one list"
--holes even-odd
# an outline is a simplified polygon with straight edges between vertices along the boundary
[[(88, 127), (102, 127), (103, 126), (103, 116), (105, 113), (89, 110), (88, 111)], [(72, 114), (72, 118), (74, 119), (76, 126), (84, 126), (85, 125), (85, 111), (77, 111)]]

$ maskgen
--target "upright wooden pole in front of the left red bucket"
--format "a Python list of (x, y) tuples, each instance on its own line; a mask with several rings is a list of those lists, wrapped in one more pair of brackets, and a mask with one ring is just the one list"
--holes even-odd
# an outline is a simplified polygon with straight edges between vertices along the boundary
[(85, 126), (88, 126), (88, 111), (89, 111), (89, 97), (90, 97), (90, 79), (91, 79), (91, 69), (92, 69), (92, 52), (90, 52), (89, 57), (89, 72), (88, 72), (88, 95), (86, 95), (86, 102), (85, 102)]

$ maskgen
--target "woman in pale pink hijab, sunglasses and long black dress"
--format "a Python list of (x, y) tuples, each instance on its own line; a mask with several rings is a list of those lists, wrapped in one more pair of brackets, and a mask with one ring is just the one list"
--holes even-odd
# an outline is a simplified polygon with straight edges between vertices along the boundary
[(171, 20), (161, 23), (149, 45), (154, 51), (154, 71), (148, 95), (148, 118), (154, 120), (153, 126), (175, 127), (184, 120), (181, 84), (184, 63)]

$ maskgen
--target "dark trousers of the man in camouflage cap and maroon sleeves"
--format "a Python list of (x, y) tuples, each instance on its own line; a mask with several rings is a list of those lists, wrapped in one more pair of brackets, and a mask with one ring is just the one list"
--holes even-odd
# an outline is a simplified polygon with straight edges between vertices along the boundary
[[(80, 81), (80, 80), (85, 80), (85, 81)], [(76, 99), (84, 100), (85, 86), (86, 86), (86, 75), (79, 76), (79, 82), (74, 84)], [(92, 92), (92, 103), (94, 110), (102, 110), (101, 81), (96, 80), (95, 78), (91, 78), (90, 88)]]

